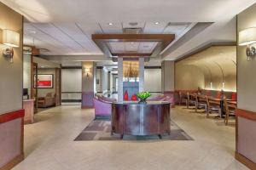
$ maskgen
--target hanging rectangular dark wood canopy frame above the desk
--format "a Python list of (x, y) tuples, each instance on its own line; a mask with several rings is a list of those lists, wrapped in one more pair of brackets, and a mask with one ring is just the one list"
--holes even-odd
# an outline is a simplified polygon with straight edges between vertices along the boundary
[[(108, 57), (156, 57), (174, 34), (93, 34), (91, 39)], [(144, 48), (144, 49), (143, 49)]]

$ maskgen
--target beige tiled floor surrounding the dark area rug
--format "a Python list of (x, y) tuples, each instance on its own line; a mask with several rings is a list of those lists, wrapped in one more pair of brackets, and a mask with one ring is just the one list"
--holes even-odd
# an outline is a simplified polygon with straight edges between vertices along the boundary
[(36, 115), (25, 127), (26, 159), (15, 170), (247, 169), (234, 159), (235, 127), (180, 107), (172, 120), (189, 141), (73, 141), (93, 119), (93, 110), (65, 105)]

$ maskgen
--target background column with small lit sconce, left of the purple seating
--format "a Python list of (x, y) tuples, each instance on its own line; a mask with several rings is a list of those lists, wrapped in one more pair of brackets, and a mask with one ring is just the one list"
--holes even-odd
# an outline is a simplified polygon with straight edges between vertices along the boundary
[(82, 62), (82, 108), (93, 108), (93, 98), (96, 86), (95, 63)]

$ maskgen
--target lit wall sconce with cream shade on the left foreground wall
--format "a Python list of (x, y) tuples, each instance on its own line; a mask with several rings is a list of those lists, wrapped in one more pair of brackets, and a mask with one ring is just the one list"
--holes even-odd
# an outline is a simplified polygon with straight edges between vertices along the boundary
[(3, 49), (3, 57), (9, 59), (13, 63), (14, 49), (20, 46), (20, 34), (15, 31), (4, 29), (0, 31), (0, 43), (9, 46), (9, 48)]

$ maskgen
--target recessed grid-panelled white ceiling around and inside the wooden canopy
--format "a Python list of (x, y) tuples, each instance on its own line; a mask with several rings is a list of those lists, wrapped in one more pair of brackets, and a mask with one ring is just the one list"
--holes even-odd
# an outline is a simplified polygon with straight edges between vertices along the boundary
[[(98, 55), (102, 51), (91, 40), (95, 33), (123, 33), (125, 28), (140, 28), (142, 33), (172, 33), (178, 37), (192, 23), (31, 23), (24, 24), (24, 43), (41, 49), (44, 55)], [(156, 42), (110, 42), (109, 48), (119, 51), (151, 53)]]

